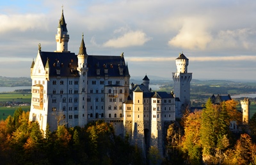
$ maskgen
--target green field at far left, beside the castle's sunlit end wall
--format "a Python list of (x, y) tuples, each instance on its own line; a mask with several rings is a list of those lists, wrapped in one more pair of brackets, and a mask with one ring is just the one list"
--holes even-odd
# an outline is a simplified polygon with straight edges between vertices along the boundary
[(5, 92), (0, 93), (0, 120), (5, 120), (8, 115), (13, 115), (14, 111), (18, 108), (22, 108), (24, 111), (29, 111), (30, 106), (10, 106), (6, 104), (11, 102), (29, 103), (31, 102), (30, 93), (16, 93), (16, 92)]

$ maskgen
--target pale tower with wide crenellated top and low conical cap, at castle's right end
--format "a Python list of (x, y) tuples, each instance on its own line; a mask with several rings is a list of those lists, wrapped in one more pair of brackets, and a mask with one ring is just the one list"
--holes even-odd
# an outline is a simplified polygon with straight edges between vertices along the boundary
[(190, 82), (192, 73), (188, 73), (188, 64), (189, 59), (184, 54), (180, 54), (176, 59), (177, 72), (172, 73), (174, 94), (180, 100), (175, 112), (176, 117), (181, 117), (182, 110), (190, 106)]

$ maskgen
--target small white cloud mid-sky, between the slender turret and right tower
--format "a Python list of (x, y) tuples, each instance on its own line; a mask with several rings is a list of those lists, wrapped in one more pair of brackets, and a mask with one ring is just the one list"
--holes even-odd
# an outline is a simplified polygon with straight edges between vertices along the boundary
[(144, 45), (147, 41), (150, 41), (152, 38), (148, 37), (147, 34), (143, 31), (129, 31), (126, 32), (123, 36), (118, 38), (109, 39), (106, 43), (103, 44), (104, 47), (114, 47), (114, 48), (124, 48), (132, 46), (141, 46)]

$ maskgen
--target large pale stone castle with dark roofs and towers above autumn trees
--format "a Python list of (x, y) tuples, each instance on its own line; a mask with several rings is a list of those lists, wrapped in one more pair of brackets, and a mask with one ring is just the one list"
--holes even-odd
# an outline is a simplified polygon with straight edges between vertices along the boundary
[(188, 73), (186, 56), (180, 54), (176, 59), (174, 94), (153, 92), (147, 75), (141, 85), (131, 83), (130, 88), (124, 53), (88, 55), (82, 36), (76, 55), (68, 51), (68, 40), (62, 10), (56, 51), (44, 52), (38, 45), (36, 59), (31, 64), (29, 120), (38, 121), (43, 131), (47, 124), (54, 131), (63, 124), (83, 127), (101, 119), (111, 123), (116, 134), (128, 134), (131, 143), (143, 150), (156, 146), (163, 153), (168, 124), (190, 102), (192, 73)]

